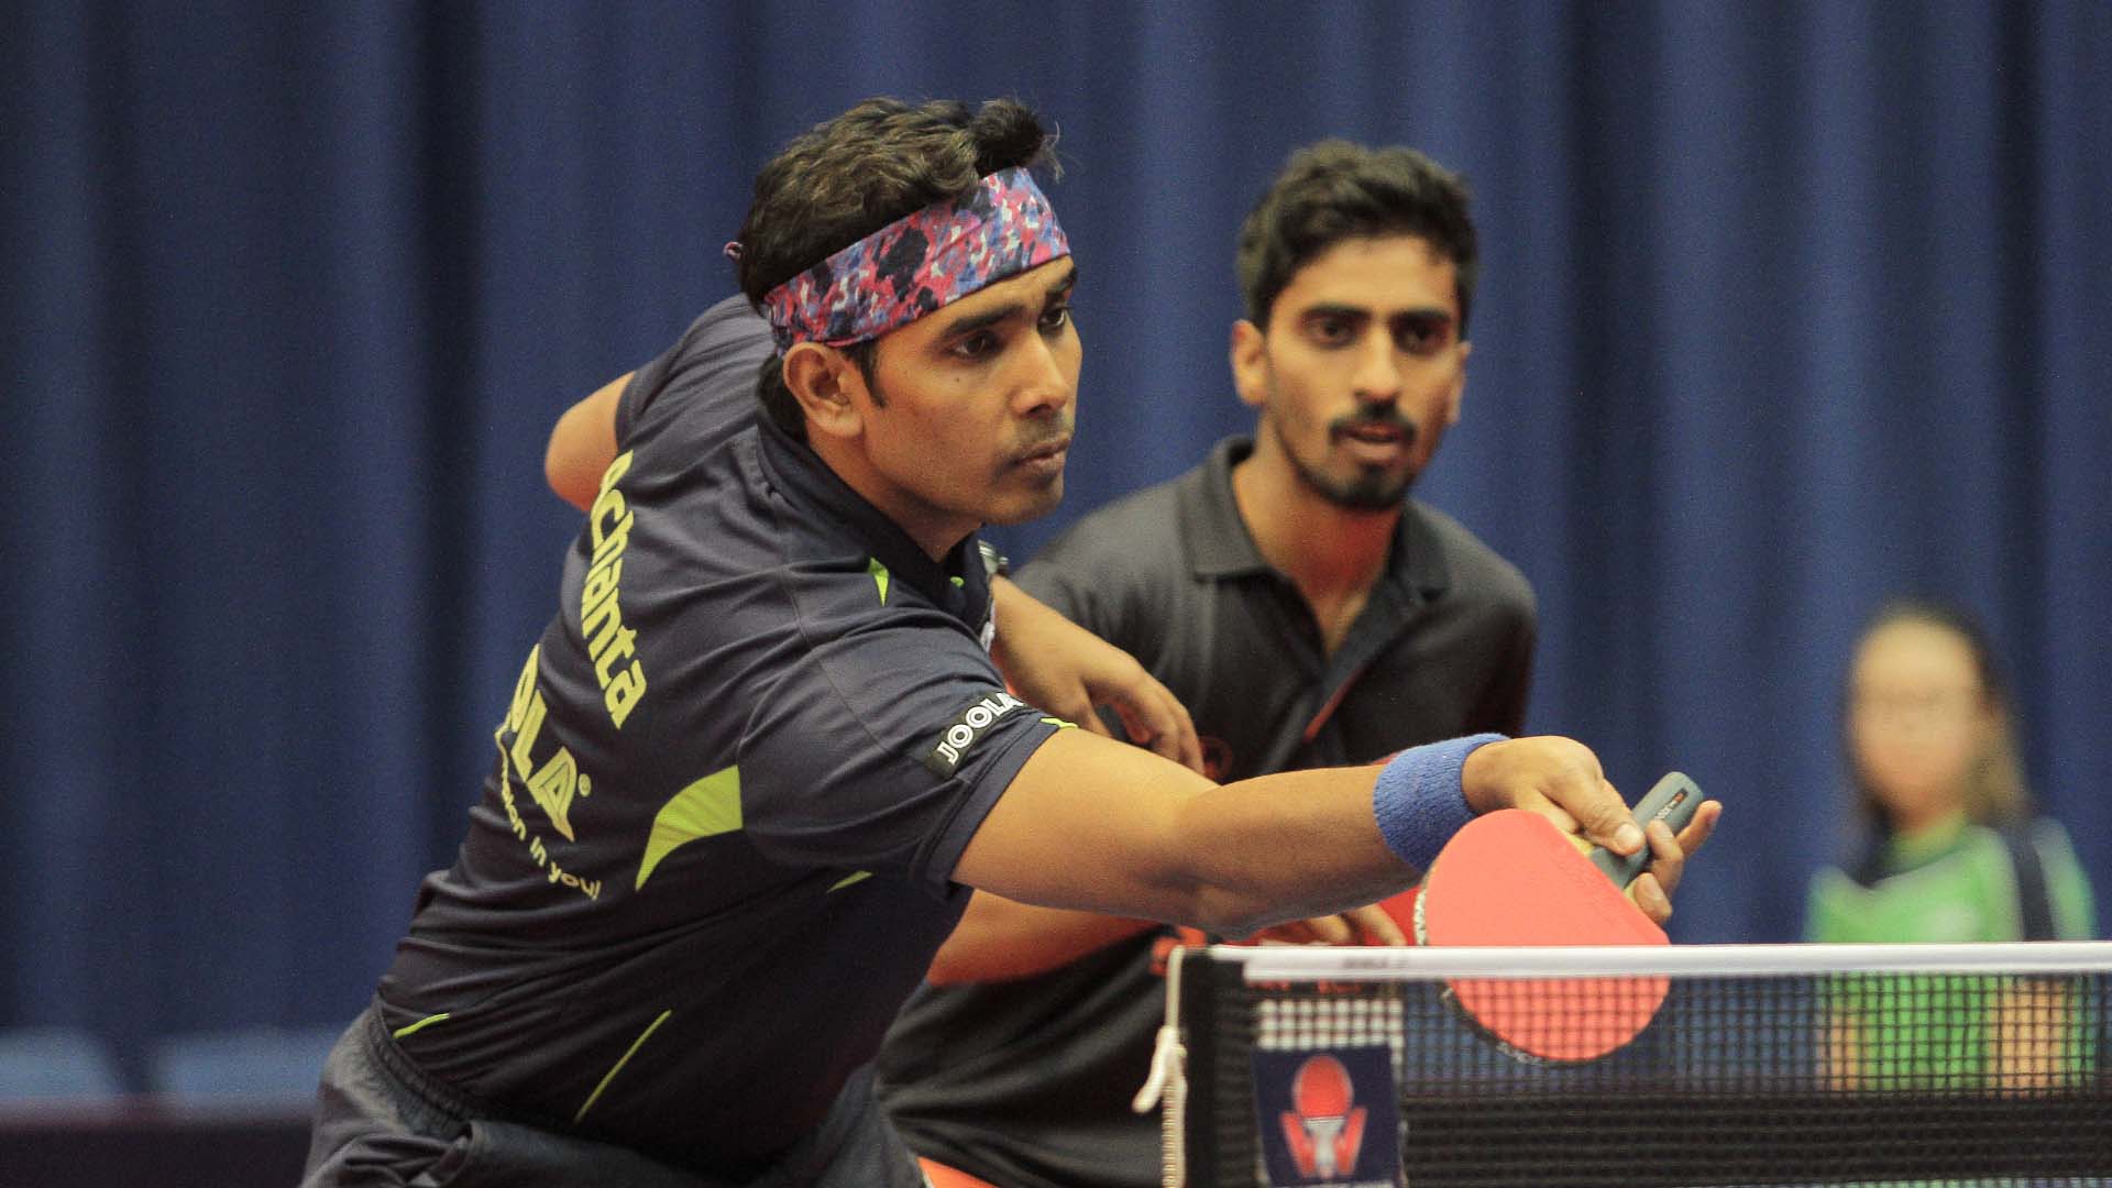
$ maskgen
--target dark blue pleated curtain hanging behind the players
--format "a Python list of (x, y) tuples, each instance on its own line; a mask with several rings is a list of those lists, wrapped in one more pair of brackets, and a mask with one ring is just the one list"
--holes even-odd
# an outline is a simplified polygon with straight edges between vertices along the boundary
[(551, 421), (872, 93), (1062, 125), (1081, 438), (1014, 556), (1248, 427), (1284, 154), (1415, 144), (1487, 243), (1423, 493), (1540, 590), (1533, 727), (1730, 803), (1675, 932), (1795, 934), (1894, 590), (1990, 619), (2112, 892), (2112, 6), (23, 0), (0, 76), (0, 1023), (359, 1008), (553, 607)]

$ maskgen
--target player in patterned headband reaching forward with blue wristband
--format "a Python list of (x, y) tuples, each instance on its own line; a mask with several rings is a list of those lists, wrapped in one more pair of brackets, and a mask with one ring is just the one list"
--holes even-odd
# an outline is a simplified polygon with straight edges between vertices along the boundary
[(308, 1184), (906, 1188), (870, 1059), (967, 888), (1242, 930), (1407, 886), (1472, 812), (1645, 843), (1569, 740), (1217, 786), (1007, 687), (976, 528), (1054, 507), (1079, 374), (1043, 156), (1007, 101), (815, 127), (729, 247), (765, 414), (718, 400), (756, 357), (720, 309), (560, 423), (555, 484), (600, 474), (560, 611)]

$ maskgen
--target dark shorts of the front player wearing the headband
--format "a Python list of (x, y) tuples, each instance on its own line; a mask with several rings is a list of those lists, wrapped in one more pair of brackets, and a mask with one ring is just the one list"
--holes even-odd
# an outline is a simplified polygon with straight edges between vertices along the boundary
[(420, 1072), (372, 1006), (323, 1063), (302, 1188), (921, 1188), (872, 1097), (872, 1070), (754, 1180), (716, 1180), (555, 1129), (490, 1116)]

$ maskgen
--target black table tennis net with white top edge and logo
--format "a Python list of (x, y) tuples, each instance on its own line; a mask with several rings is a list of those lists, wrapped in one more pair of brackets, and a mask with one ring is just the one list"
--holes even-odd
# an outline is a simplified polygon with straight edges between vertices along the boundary
[[(1668, 987), (1544, 1061), (1459, 1010), (1474, 974), (1554, 1027)], [(2112, 1186), (2108, 979), (2112, 945), (1191, 949), (1166, 1184)]]

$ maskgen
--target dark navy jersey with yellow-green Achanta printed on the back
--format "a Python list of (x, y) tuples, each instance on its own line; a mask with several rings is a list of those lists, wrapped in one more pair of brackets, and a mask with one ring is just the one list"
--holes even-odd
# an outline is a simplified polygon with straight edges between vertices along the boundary
[(727, 302), (625, 389), (469, 839), (380, 987), (492, 1112), (729, 1177), (872, 1057), (1060, 727), (991, 664), (974, 537), (934, 562), (756, 416), (769, 353)]

